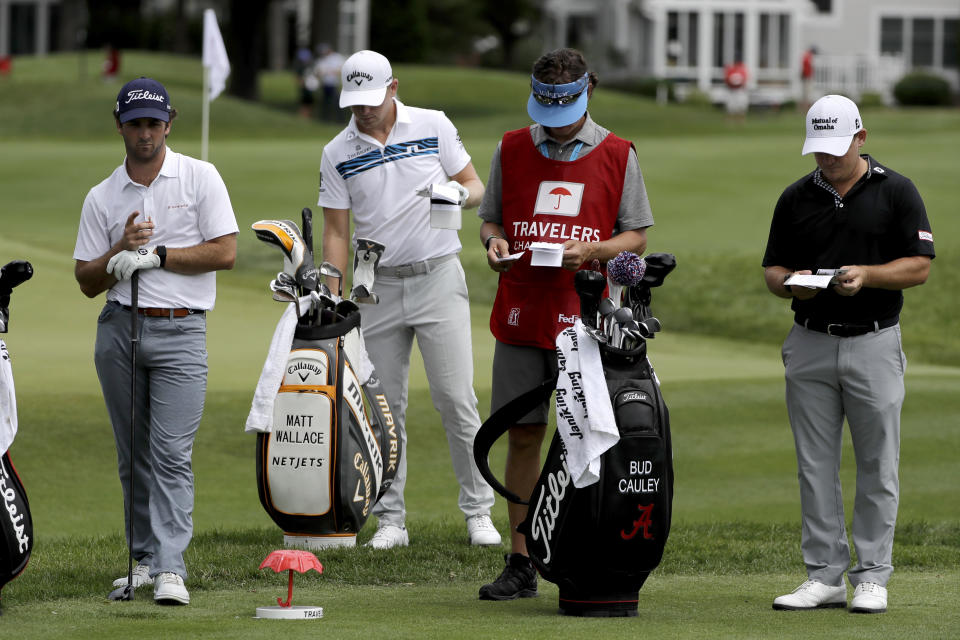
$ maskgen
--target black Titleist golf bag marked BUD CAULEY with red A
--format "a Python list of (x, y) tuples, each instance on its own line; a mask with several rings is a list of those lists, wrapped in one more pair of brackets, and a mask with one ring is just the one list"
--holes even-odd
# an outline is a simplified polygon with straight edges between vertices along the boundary
[[(591, 273), (596, 274), (602, 292), (602, 276)], [(661, 282), (665, 275), (660, 275)], [(474, 456), (484, 478), (498, 493), (511, 502), (529, 505), (518, 531), (524, 535), (537, 571), (560, 587), (561, 613), (635, 616), (640, 588), (663, 557), (673, 504), (670, 418), (646, 349), (646, 340), (654, 337), (655, 330), (645, 329), (659, 328), (659, 322), (652, 317), (635, 317), (644, 331), (637, 336), (641, 339), (630, 345), (632, 348), (607, 344), (600, 339), (603, 331), (597, 328), (596, 305), (584, 300), (580, 284), (578, 293), (584, 302), (581, 319), (599, 342), (603, 375), (619, 431), (619, 441), (600, 458), (599, 479), (583, 488), (574, 486), (559, 431), (554, 433), (540, 478), (528, 499), (507, 490), (490, 472), (488, 454), (493, 442), (550, 397), (557, 386), (556, 376), (490, 416), (477, 434)], [(648, 302), (649, 295), (644, 293), (649, 292), (642, 289), (649, 286), (643, 282), (636, 285), (637, 290), (631, 292), (634, 299)], [(562, 373), (564, 362), (559, 349), (558, 356)], [(561, 400), (558, 391), (558, 404), (570, 400)]]

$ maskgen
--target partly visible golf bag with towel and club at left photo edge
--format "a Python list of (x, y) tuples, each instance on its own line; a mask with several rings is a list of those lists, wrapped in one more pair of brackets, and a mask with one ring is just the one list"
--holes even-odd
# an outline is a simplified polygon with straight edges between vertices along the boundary
[[(0, 333), (7, 332), (13, 288), (31, 276), (33, 267), (23, 260), (0, 268)], [(26, 568), (33, 550), (30, 502), (8, 450), (17, 430), (16, 412), (10, 355), (0, 340), (0, 590)]]

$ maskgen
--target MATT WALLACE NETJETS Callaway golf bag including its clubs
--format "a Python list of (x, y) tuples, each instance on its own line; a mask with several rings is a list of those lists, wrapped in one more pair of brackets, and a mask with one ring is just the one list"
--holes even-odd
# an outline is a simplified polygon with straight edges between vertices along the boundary
[[(307, 236), (308, 216), (306, 209)], [(396, 475), (397, 427), (363, 346), (359, 307), (319, 282), (310, 243), (293, 222), (260, 221), (254, 229), (284, 250), (285, 271), (271, 289), (297, 310), (269, 429), (251, 429), (248, 419), (247, 430), (260, 431), (260, 503), (289, 546), (353, 546)], [(323, 263), (319, 275), (342, 286), (333, 265)], [(364, 293), (375, 298), (368, 284)]]

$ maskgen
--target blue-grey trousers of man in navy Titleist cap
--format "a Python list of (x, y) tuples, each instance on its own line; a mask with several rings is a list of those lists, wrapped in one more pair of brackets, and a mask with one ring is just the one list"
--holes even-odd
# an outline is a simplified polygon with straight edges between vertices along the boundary
[[(138, 318), (133, 452), (133, 556), (150, 575), (187, 577), (193, 536), (193, 440), (207, 388), (206, 318)], [(124, 509), (130, 492), (130, 312), (108, 302), (97, 321), (97, 376), (117, 446)], [(126, 514), (129, 523), (129, 513)]]

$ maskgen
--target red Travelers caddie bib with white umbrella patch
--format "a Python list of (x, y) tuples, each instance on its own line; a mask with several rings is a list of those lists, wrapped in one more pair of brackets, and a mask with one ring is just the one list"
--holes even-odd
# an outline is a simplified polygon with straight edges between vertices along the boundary
[(497, 340), (553, 350), (557, 334), (579, 317), (574, 272), (531, 267), (530, 243), (609, 239), (632, 146), (609, 134), (587, 155), (564, 162), (544, 157), (533, 145), (529, 129), (504, 134), (503, 230), (510, 252), (524, 255), (500, 274), (490, 314), (490, 331)]

